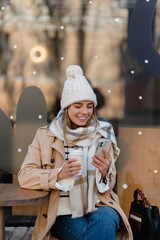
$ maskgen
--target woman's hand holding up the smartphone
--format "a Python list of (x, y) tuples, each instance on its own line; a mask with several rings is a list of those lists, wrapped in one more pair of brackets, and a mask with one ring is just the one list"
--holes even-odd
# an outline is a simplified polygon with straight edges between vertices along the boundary
[(103, 152), (103, 157), (100, 156), (99, 154), (95, 154), (92, 157), (93, 159), (92, 165), (99, 169), (99, 171), (102, 174), (102, 178), (105, 179), (108, 173), (109, 167), (111, 165), (111, 156), (109, 153), (106, 152), (104, 148), (102, 148), (102, 152)]

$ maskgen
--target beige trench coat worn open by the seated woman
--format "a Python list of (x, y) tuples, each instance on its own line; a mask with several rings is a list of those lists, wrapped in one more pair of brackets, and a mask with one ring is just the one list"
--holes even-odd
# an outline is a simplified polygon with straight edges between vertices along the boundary
[[(32, 240), (51, 240), (50, 228), (55, 222), (59, 190), (55, 188), (58, 168), (65, 161), (63, 142), (55, 138), (47, 127), (37, 130), (32, 144), (18, 173), (18, 180), (22, 188), (39, 189), (50, 192), (47, 201), (41, 203), (35, 223)], [(117, 239), (132, 240), (132, 232), (128, 219), (119, 206), (118, 197), (113, 193), (116, 171), (113, 171), (111, 189), (98, 194), (102, 205), (116, 209), (121, 216), (121, 230)]]

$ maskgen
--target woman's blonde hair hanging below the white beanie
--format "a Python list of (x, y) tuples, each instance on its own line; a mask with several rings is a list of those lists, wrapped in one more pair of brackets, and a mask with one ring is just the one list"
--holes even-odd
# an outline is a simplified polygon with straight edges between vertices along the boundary
[[(95, 130), (98, 126), (98, 120), (97, 120), (97, 116), (96, 116), (96, 109), (93, 108), (93, 114), (92, 114), (92, 117), (91, 119), (88, 120), (87, 124), (85, 127), (88, 127), (91, 123), (91, 120), (94, 120), (95, 122)], [(63, 122), (63, 136), (64, 136), (64, 140), (67, 144), (67, 139), (66, 139), (66, 129), (67, 129), (67, 126), (69, 128), (72, 129), (72, 121), (70, 120), (69, 116), (68, 116), (68, 107), (64, 109), (64, 113), (62, 115), (62, 122)]]

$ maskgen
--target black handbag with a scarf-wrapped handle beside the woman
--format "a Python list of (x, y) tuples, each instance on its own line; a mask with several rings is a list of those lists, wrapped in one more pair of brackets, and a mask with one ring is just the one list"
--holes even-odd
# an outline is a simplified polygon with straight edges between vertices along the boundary
[[(141, 200), (138, 200), (138, 194)], [(157, 206), (151, 206), (142, 191), (134, 191), (129, 222), (134, 240), (160, 240), (160, 216)]]

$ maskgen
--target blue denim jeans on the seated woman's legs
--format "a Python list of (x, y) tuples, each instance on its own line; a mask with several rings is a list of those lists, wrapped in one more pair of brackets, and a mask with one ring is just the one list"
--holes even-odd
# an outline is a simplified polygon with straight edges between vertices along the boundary
[(58, 216), (51, 234), (60, 240), (116, 240), (119, 222), (113, 208), (102, 206), (84, 217)]

